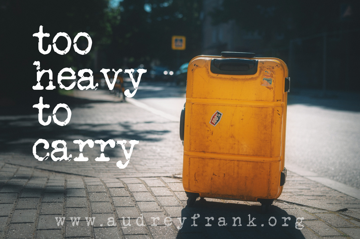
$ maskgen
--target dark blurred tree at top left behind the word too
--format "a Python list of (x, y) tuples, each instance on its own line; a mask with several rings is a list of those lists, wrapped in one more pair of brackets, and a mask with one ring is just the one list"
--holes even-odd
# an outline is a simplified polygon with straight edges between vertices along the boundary
[[(56, 90), (32, 90), (36, 83), (34, 61), (40, 61), (41, 69), (53, 71), (54, 85), (57, 85), (59, 70), (64, 67), (72, 67), (76, 73), (79, 69), (91, 69), (96, 48), (111, 41), (112, 25), (118, 22), (119, 14), (118, 10), (108, 8), (108, 0), (2, 0), (0, 5), (1, 55), (6, 59), (0, 71), (0, 94), (2, 98), (10, 97), (13, 101), (25, 103), (29, 97), (39, 100), (39, 94), (56, 95)], [(72, 40), (78, 32), (86, 32), (93, 41), (91, 51), (79, 55), (71, 47), (66, 55), (58, 55), (53, 49), (49, 54), (42, 55), (37, 47), (38, 38), (32, 36), (39, 32), (40, 25), (44, 27), (44, 33), (50, 34), (50, 37), (43, 38), (44, 49), (52, 44), (58, 32), (67, 33)], [(59, 37), (56, 44), (63, 50), (67, 41)], [(84, 50), (87, 47), (86, 38), (79, 38), (77, 46)], [(44, 86), (48, 84), (46, 77), (44, 75)]]

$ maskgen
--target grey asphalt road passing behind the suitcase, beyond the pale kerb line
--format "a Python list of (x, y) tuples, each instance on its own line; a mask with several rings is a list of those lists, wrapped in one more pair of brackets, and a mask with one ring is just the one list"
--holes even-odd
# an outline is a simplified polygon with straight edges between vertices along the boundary
[[(294, 90), (288, 95), (286, 163), (360, 189), (360, 94)], [(136, 99), (180, 117), (185, 87), (141, 82)]]

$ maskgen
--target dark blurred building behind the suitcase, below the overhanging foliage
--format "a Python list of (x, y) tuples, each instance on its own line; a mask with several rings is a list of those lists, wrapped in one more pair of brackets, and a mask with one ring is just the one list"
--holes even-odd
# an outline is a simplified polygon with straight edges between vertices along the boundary
[[(298, 34), (298, 29), (294, 28), (289, 34), (290, 31), (281, 32), (274, 23), (271, 40), (256, 27), (247, 31), (240, 28), (235, 20), (214, 22), (212, 12), (220, 8), (222, 0), (203, 0), (203, 55), (219, 56), (222, 51), (233, 51), (253, 52), (257, 57), (277, 57), (288, 65), (292, 87), (360, 90), (360, 84), (357, 84), (360, 29), (359, 18), (354, 14), (359, 10), (359, 4), (352, 6), (337, 1), (331, 4), (331, 11), (326, 14), (312, 11), (311, 19), (322, 18), (327, 24), (324, 27), (318, 24), (317, 32)], [(312, 23), (304, 25), (311, 27)]]

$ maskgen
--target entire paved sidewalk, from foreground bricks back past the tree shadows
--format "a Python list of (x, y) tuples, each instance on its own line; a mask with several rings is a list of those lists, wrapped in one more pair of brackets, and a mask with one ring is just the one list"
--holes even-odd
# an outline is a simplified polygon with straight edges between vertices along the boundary
[[(70, 106), (63, 128), (40, 127), (36, 114), (0, 117), (1, 238), (360, 238), (360, 200), (290, 171), (267, 214), (257, 202), (205, 198), (187, 207), (178, 123), (96, 94), (107, 101)], [(105, 148), (108, 162), (94, 160), (99, 145), (84, 149), (87, 162), (37, 161), (31, 152), (39, 138), (65, 140), (76, 156), (76, 139), (140, 142), (119, 169), (119, 145)]]

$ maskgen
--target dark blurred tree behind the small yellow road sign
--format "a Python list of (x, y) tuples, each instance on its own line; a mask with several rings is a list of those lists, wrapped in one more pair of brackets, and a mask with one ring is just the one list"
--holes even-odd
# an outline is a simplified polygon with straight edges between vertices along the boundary
[[(158, 59), (164, 65), (178, 67), (175, 61), (178, 54), (182, 61), (199, 55), (201, 3), (202, 0), (120, 2), (121, 20), (113, 28), (112, 43), (106, 53), (111, 62), (107, 64), (127, 63), (129, 67), (136, 67)], [(185, 51), (177, 53), (171, 49), (173, 35), (186, 36)], [(123, 58), (127, 62), (122, 62)]]

